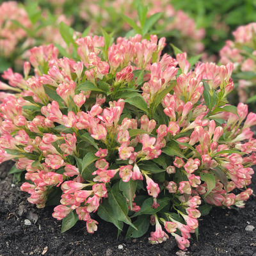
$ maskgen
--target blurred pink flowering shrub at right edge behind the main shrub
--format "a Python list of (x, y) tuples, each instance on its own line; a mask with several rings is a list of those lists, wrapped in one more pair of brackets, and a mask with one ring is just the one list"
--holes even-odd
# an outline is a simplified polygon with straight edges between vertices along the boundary
[(234, 42), (228, 40), (220, 51), (220, 62), (234, 63), (234, 81), (241, 102), (255, 102), (256, 86), (256, 23), (240, 26), (233, 32)]

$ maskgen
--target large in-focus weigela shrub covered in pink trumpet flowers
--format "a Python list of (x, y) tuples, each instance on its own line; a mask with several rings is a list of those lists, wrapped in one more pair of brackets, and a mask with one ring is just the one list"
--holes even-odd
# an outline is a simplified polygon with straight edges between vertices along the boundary
[[(35, 74), (8, 70), (17, 93), (0, 105), (0, 162), (26, 170), (22, 191), (38, 208), (57, 204), (62, 231), (95, 212), (126, 237), (148, 227), (150, 243), (175, 237), (186, 250), (212, 205), (244, 207), (256, 163), (246, 105), (227, 104), (231, 63), (161, 56), (165, 38), (105, 35), (76, 40), (77, 59), (53, 46), (31, 49)], [(6, 85), (7, 86), (7, 85)]]

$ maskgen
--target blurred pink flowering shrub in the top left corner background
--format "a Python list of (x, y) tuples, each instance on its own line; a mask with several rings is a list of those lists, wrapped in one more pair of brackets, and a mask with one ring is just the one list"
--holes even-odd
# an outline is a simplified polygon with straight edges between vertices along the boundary
[(35, 45), (65, 44), (59, 24), (71, 24), (65, 15), (52, 17), (51, 13), (40, 10), (35, 2), (28, 6), (15, 1), (3, 2), (0, 16), (0, 72), (13, 65), (20, 70), (24, 59), (28, 58), (26, 51)]

